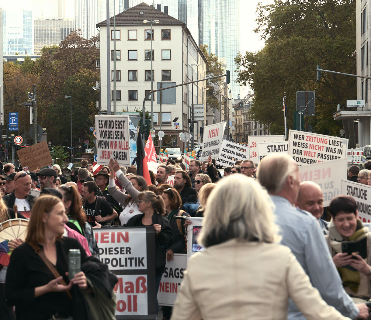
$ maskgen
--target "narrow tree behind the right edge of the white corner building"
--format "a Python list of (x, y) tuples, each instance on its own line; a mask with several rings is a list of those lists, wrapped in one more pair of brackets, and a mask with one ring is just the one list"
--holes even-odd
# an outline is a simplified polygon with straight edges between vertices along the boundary
[[(209, 46), (207, 46), (207, 44), (200, 46), (200, 49), (207, 60), (206, 77), (209, 78), (223, 75), (222, 63), (219, 61), (219, 57), (217, 57), (214, 53), (209, 54), (209, 52), (207, 52), (208, 48)], [(220, 102), (218, 97), (222, 91), (220, 86), (223, 83), (223, 80), (223, 77), (206, 80), (206, 88), (209, 88), (206, 91), (206, 111), (213, 108), (220, 110)]]

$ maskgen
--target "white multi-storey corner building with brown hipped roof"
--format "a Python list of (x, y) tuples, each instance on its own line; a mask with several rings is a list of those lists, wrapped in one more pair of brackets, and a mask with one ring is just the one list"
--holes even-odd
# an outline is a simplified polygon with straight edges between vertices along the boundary
[[(144, 20), (159, 20), (151, 25)], [(114, 66), (113, 57), (116, 54), (116, 100), (117, 112), (142, 109), (145, 95), (158, 86), (169, 86), (190, 82), (206, 77), (206, 58), (193, 39), (187, 26), (180, 20), (155, 9), (148, 4), (141, 3), (116, 15), (116, 53), (113, 49), (113, 18), (111, 25), (111, 101), (113, 101)], [(106, 34), (106, 22), (97, 24), (101, 34)], [(152, 69), (151, 76), (151, 38), (152, 38)], [(100, 37), (100, 88), (101, 109), (107, 106), (105, 92), (106, 70), (106, 37)], [(154, 93), (154, 128), (156, 132), (165, 132), (162, 145), (171, 146), (175, 141), (184, 148), (188, 143), (180, 142), (179, 133), (189, 132), (192, 101), (196, 105), (203, 105), (205, 111), (206, 88), (205, 82), (193, 85), (184, 85), (175, 89), (176, 100), (167, 100), (167, 90)], [(193, 95), (192, 95), (193, 94)], [(161, 102), (161, 103), (160, 103)], [(113, 102), (111, 103), (111, 110)], [(151, 110), (150, 96), (145, 101), (145, 108)], [(173, 120), (178, 118), (176, 129)], [(204, 117), (203, 117), (204, 120)], [(200, 141), (199, 128), (204, 121), (197, 121), (194, 125), (195, 145)]]

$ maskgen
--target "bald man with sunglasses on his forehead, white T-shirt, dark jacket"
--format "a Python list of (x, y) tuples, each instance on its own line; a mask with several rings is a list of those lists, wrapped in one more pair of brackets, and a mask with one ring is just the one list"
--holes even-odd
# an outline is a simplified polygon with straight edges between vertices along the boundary
[(18, 211), (27, 219), (30, 218), (36, 198), (30, 195), (31, 184), (32, 179), (29, 172), (17, 172), (14, 176), (14, 191), (3, 197), (8, 208), (13, 209), (13, 205), (17, 205)]

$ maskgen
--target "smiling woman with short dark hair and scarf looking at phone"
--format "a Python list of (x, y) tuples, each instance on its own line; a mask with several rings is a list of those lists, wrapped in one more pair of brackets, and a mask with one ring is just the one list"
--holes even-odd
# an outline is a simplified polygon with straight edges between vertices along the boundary
[[(331, 200), (329, 212), (332, 220), (325, 235), (332, 260), (338, 268), (345, 291), (351, 297), (371, 298), (371, 233), (358, 218), (357, 202), (353, 197), (340, 195)], [(352, 241), (359, 248), (367, 248), (366, 254), (343, 252), (342, 244)], [(363, 255), (363, 257), (361, 256)], [(353, 298), (355, 303), (361, 302)]]

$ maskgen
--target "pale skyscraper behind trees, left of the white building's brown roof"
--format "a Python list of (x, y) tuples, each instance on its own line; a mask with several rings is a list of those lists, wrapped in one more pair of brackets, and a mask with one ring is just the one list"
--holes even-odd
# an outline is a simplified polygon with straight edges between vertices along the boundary
[[(124, 11), (121, 0), (109, 1), (109, 16)], [(142, 1), (141, 1), (142, 2)], [(82, 36), (90, 39), (98, 34), (96, 24), (107, 20), (106, 0), (75, 0), (75, 29), (81, 29)]]

